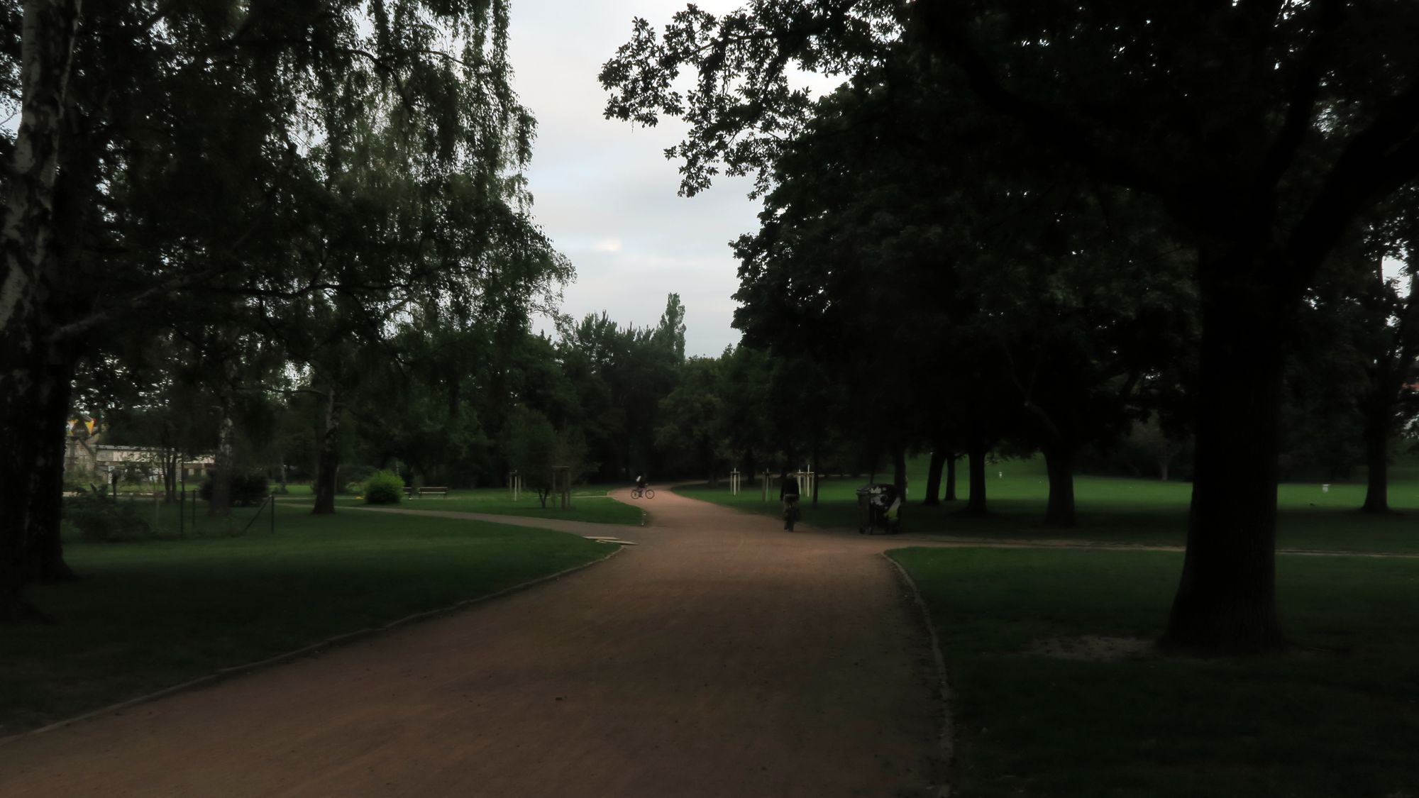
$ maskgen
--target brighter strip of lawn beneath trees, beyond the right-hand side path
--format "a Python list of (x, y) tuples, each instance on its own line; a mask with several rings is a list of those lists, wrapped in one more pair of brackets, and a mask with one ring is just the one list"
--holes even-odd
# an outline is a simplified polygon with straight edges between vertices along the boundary
[[(924, 486), (925, 461), (911, 461), (908, 484)], [(1003, 474), (1003, 476), (1000, 476)], [(890, 474), (878, 474), (878, 480)], [(819, 505), (803, 505), (803, 523), (817, 527), (856, 528), (856, 488), (867, 477), (827, 479), (819, 483)], [(962, 515), (966, 484), (958, 487), (961, 500), (924, 507), (908, 493), (902, 511), (905, 532), (945, 534), (979, 538), (1084, 540), (1105, 544), (1182, 545), (1188, 531), (1188, 503), (1192, 484), (1124, 477), (1078, 476), (1074, 481), (1080, 525), (1054, 530), (1042, 525), (1049, 484), (1043, 463), (1007, 460), (992, 466), (986, 496), (988, 515)], [(684, 486), (684, 496), (704, 498), (751, 513), (779, 513), (778, 486), (763, 501), (758, 484), (739, 496), (729, 496), (727, 483), (718, 488)], [(1277, 496), (1280, 513), (1279, 545), (1307, 551), (1419, 552), (1419, 470), (1409, 464), (1395, 469), (1389, 488), (1391, 507), (1402, 514), (1371, 517), (1354, 513), (1364, 504), (1365, 486), (1359, 481), (1338, 483), (1323, 491), (1317, 484), (1283, 484)]]

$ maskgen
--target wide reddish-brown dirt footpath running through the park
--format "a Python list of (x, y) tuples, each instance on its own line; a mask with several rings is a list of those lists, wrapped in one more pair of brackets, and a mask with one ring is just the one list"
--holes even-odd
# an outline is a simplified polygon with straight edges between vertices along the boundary
[(935, 794), (895, 541), (636, 504), (648, 525), (590, 534), (639, 545), (563, 579), (3, 744), (0, 795)]

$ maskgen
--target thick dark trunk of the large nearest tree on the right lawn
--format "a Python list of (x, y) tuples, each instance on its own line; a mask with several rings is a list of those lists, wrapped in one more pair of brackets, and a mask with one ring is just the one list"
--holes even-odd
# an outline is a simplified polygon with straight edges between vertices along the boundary
[(1284, 645), (1276, 612), (1276, 481), (1286, 322), (1279, 308), (1286, 300), (1250, 264), (1222, 266), (1212, 273), (1220, 285), (1203, 275), (1188, 552), (1164, 643), (1257, 653)]

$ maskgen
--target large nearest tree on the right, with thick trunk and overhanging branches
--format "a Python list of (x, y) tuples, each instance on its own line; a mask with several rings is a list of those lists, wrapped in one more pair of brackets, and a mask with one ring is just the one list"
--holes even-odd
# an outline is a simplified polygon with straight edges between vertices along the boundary
[[(789, 88), (802, 67), (988, 121), (1029, 142), (1026, 159), (1159, 202), (1195, 251), (1202, 335), (1192, 523), (1166, 642), (1269, 650), (1283, 645), (1284, 352), (1321, 263), (1419, 175), (1416, 30), (1419, 6), (1403, 0), (756, 0), (724, 17), (690, 7), (663, 33), (636, 20), (602, 82), (607, 116), (691, 122), (667, 152), (685, 192), (718, 165), (772, 185), (786, 142), (824, 109)], [(695, 89), (680, 94), (685, 68)], [(958, 138), (925, 155), (979, 149)]]

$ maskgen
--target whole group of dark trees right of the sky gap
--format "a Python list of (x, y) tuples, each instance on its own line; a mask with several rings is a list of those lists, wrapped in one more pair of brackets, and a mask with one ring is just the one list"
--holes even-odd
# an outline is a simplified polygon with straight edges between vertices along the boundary
[[(910, 379), (873, 403), (902, 440), (1027, 436), (1067, 521), (1074, 459), (1131, 408), (1191, 429), (1165, 639), (1256, 652), (1284, 645), (1287, 386), (1311, 415), (1357, 402), (1382, 474), (1413, 382), (1412, 293), (1379, 263), (1412, 251), (1416, 24), (1399, 1), (751, 0), (637, 18), (602, 82), (607, 116), (690, 122), (683, 192), (758, 176), (746, 339)], [(815, 102), (792, 67), (846, 82)]]

